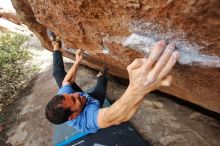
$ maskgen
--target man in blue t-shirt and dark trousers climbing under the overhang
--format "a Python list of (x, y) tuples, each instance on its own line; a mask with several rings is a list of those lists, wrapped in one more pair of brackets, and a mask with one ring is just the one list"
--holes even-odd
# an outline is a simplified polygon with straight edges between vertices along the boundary
[(102, 108), (106, 95), (106, 70), (98, 77), (92, 92), (85, 93), (74, 83), (81, 50), (76, 52), (76, 62), (66, 74), (60, 45), (54, 45), (54, 77), (59, 86), (58, 94), (48, 103), (46, 117), (54, 124), (68, 125), (88, 133), (128, 121), (137, 112), (144, 96), (160, 86), (170, 86), (169, 72), (180, 58), (175, 45), (159, 41), (148, 58), (137, 58), (127, 67), (129, 86), (124, 94), (110, 107)]

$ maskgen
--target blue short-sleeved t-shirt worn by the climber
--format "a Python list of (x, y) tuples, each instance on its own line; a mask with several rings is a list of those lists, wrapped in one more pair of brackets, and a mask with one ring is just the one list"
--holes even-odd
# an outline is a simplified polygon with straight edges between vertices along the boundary
[[(71, 94), (75, 91), (72, 85), (64, 85), (59, 89), (58, 94)], [(83, 111), (75, 119), (67, 121), (69, 126), (72, 126), (78, 130), (82, 130), (86, 133), (95, 133), (98, 129), (98, 112), (100, 102), (90, 95), (84, 92), (79, 92), (81, 96), (86, 97), (86, 104)]]

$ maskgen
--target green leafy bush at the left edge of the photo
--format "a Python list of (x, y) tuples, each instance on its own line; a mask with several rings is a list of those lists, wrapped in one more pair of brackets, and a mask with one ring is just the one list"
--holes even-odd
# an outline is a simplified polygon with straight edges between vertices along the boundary
[(31, 59), (31, 53), (23, 47), (27, 40), (27, 36), (17, 33), (0, 33), (0, 111), (13, 103), (36, 72), (35, 66), (27, 64)]

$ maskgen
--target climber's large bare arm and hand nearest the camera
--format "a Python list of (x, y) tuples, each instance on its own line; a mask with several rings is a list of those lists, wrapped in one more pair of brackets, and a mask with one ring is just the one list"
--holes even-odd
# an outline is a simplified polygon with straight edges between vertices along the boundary
[(173, 44), (166, 46), (165, 41), (160, 41), (148, 58), (135, 59), (128, 65), (129, 86), (114, 104), (99, 110), (100, 128), (130, 120), (146, 94), (160, 86), (170, 86), (172, 77), (168, 74), (180, 57), (179, 52), (174, 50)]

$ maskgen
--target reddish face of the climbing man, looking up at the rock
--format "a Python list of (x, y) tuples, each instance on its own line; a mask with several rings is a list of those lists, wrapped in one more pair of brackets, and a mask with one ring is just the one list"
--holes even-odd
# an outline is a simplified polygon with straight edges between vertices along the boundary
[(71, 120), (80, 114), (86, 103), (86, 98), (84, 96), (80, 96), (79, 93), (63, 94), (63, 96), (64, 101), (62, 103), (62, 107), (70, 108), (73, 112), (72, 116), (69, 118), (69, 120)]

